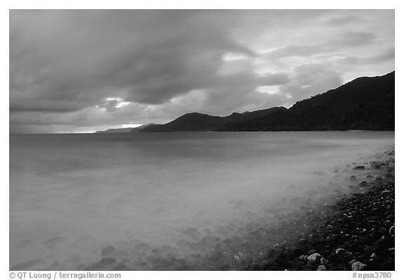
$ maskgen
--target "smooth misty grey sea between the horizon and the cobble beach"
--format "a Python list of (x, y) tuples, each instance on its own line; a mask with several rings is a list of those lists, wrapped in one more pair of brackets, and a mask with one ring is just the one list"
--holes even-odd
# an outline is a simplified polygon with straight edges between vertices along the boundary
[(271, 229), (302, 197), (346, 192), (347, 164), (393, 145), (364, 131), (11, 135), (10, 267), (237, 269), (293, 237)]

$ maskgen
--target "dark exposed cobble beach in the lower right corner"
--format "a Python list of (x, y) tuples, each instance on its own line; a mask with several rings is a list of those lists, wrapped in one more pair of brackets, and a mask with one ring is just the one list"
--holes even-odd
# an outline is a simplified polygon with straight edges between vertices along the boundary
[(322, 225), (292, 243), (276, 244), (245, 269), (394, 270), (394, 152), (352, 169), (366, 180), (351, 175), (353, 193), (322, 209)]

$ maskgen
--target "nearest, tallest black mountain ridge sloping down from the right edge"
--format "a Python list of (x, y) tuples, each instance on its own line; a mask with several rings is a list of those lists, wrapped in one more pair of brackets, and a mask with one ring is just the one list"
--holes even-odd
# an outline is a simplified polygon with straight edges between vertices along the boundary
[(395, 72), (360, 77), (271, 119), (227, 124), (218, 131), (393, 131), (394, 83)]

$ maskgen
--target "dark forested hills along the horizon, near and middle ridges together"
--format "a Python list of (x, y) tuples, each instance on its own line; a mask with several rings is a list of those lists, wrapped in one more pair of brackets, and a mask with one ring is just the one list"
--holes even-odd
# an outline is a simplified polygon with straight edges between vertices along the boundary
[(395, 72), (361, 77), (289, 109), (210, 116), (189, 113), (140, 132), (186, 131), (394, 131)]

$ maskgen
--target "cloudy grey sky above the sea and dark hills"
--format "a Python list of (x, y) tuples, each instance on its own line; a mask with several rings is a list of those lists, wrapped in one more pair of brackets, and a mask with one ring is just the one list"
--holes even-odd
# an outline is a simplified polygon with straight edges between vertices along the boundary
[(393, 10), (11, 10), (10, 133), (225, 116), (394, 70)]

